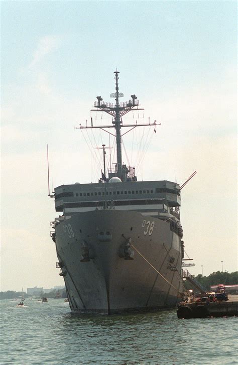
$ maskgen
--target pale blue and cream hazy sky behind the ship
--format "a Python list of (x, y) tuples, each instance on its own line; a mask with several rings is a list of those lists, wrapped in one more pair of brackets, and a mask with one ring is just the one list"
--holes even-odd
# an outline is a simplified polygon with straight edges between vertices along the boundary
[(197, 171), (181, 191), (190, 273), (221, 271), (221, 261), (237, 271), (236, 2), (2, 1), (1, 9), (0, 290), (63, 285), (47, 144), (51, 190), (97, 182), (97, 148), (113, 141), (75, 127), (91, 116), (110, 123), (90, 109), (98, 95), (113, 102), (115, 69), (121, 100), (136, 94), (145, 108), (124, 123), (161, 124), (125, 136), (138, 180), (182, 185)]

